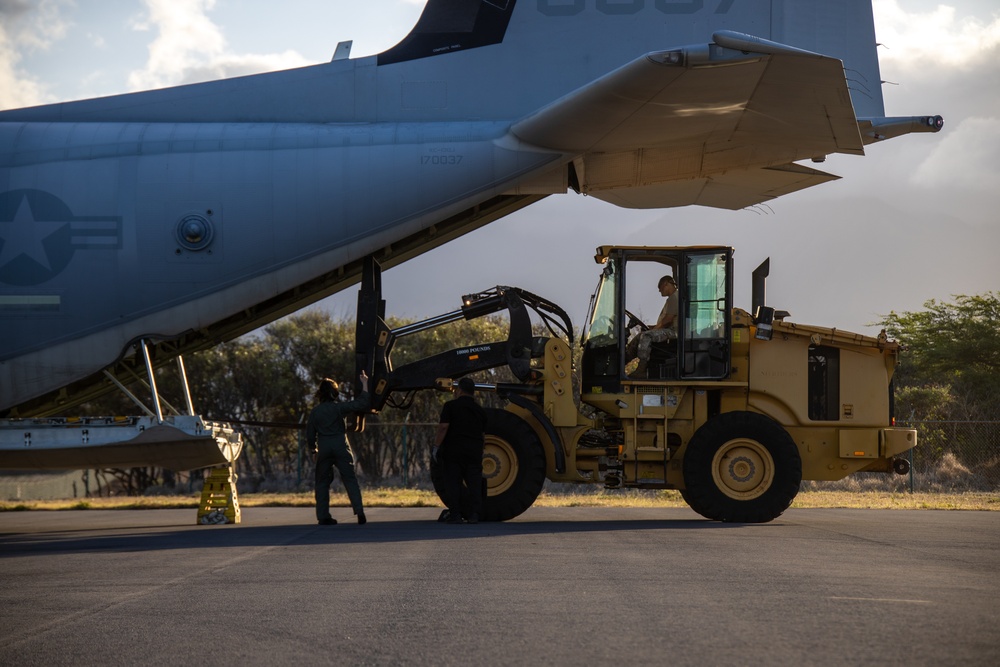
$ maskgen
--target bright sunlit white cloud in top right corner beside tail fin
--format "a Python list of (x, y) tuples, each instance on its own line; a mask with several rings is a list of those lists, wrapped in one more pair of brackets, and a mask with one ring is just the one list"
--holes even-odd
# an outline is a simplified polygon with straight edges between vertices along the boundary
[(972, 67), (1000, 46), (1000, 14), (989, 18), (959, 17), (951, 5), (927, 12), (906, 11), (899, 0), (875, 0), (875, 31), (885, 48), (879, 59), (903, 68), (926, 67), (931, 61)]

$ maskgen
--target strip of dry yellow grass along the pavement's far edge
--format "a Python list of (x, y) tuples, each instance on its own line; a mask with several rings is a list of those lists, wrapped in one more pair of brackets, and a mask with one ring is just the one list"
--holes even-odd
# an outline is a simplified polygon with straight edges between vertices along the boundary
[[(430, 490), (405, 488), (364, 489), (367, 507), (442, 507)], [(247, 493), (239, 497), (242, 507), (311, 507), (312, 493)], [(331, 504), (349, 507), (344, 493), (334, 493)], [(200, 496), (151, 496), (142, 498), (88, 498), (86, 500), (0, 501), (0, 512), (83, 509), (194, 509)], [(543, 491), (537, 507), (684, 507), (677, 491)], [(803, 491), (793, 508), (847, 508), (900, 510), (1000, 510), (1000, 493), (914, 493), (895, 491)]]

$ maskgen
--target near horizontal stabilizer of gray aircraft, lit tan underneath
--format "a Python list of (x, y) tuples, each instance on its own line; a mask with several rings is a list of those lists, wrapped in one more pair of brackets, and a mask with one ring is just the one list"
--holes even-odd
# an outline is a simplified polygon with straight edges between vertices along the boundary
[(718, 44), (649, 53), (519, 121), (513, 132), (572, 153), (727, 151), (731, 159), (716, 170), (862, 154), (841, 61), (771, 44), (761, 47), (771, 53)]

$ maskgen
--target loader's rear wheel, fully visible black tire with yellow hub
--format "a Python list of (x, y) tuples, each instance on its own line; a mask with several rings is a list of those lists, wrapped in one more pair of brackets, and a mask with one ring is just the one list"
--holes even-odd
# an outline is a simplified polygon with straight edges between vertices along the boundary
[(765, 523), (788, 509), (801, 482), (799, 450), (780, 424), (755, 412), (727, 412), (691, 438), (681, 495), (708, 519)]

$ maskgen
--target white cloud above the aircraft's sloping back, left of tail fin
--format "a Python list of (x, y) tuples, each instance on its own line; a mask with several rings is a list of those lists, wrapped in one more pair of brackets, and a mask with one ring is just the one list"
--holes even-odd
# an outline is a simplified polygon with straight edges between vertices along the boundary
[(129, 75), (133, 90), (241, 76), (309, 64), (295, 51), (271, 54), (230, 52), (222, 30), (209, 18), (215, 0), (145, 0), (147, 13), (136, 30), (157, 30), (149, 59)]

